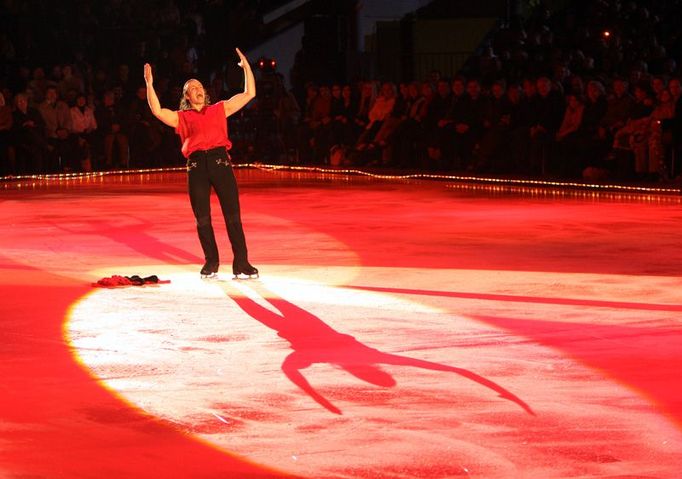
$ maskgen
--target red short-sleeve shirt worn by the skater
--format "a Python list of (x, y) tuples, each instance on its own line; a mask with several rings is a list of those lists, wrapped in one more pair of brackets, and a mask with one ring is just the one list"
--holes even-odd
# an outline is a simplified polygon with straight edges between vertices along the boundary
[(200, 111), (179, 110), (175, 132), (180, 135), (181, 151), (185, 158), (189, 158), (194, 151), (219, 146), (228, 150), (232, 148), (232, 142), (227, 137), (227, 118), (222, 102), (205, 106)]

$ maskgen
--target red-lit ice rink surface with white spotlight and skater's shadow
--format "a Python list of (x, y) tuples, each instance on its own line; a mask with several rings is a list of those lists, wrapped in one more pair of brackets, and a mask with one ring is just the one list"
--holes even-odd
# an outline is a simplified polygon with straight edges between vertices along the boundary
[(1, 180), (0, 478), (680, 477), (675, 185), (236, 175)]

